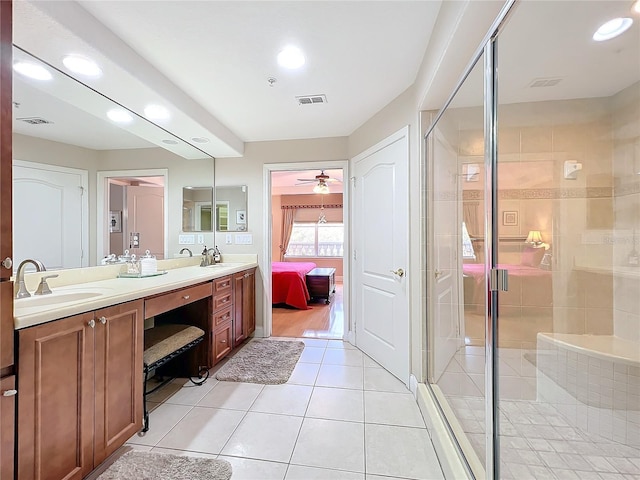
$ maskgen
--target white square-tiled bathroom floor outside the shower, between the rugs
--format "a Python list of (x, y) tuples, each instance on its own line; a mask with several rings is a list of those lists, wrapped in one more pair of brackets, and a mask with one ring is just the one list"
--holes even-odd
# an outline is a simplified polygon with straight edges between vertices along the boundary
[(149, 432), (128, 446), (224, 458), (233, 480), (444, 478), (401, 382), (347, 343), (302, 340), (284, 385), (168, 384), (150, 396)]

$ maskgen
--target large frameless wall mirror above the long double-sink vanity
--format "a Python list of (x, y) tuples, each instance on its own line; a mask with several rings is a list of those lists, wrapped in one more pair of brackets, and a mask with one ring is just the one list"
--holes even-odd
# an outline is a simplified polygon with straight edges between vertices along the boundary
[[(182, 187), (203, 171), (213, 184), (213, 158), (21, 48), (13, 55), (14, 64), (48, 72), (40, 80), (13, 73), (14, 265), (36, 258), (54, 270), (96, 265), (125, 249), (177, 253), (177, 235), (168, 232), (182, 228), (174, 214)], [(112, 109), (129, 113), (129, 123), (109, 120)], [(211, 188), (208, 202), (211, 210)], [(200, 228), (211, 231), (200, 205)], [(140, 244), (130, 244), (132, 233)]]

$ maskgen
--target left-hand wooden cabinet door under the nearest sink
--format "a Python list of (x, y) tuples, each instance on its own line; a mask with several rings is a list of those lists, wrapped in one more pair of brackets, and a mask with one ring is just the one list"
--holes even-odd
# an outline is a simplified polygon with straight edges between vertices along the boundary
[(18, 332), (20, 479), (82, 479), (93, 469), (92, 320), (86, 313)]

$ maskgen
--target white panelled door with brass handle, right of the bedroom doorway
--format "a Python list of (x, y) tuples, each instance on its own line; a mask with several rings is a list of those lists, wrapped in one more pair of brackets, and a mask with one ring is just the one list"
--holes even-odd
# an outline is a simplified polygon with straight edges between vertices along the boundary
[(408, 134), (406, 127), (354, 158), (353, 189), (356, 345), (405, 384), (412, 274)]

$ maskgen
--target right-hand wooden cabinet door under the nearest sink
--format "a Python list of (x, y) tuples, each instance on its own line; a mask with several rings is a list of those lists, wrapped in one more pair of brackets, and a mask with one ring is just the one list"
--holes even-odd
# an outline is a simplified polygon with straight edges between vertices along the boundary
[(98, 465), (142, 428), (143, 301), (95, 312)]

